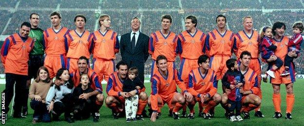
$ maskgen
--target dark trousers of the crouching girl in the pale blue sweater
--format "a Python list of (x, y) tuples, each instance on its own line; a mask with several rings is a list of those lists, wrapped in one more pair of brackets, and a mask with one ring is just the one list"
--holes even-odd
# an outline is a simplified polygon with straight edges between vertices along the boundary
[(59, 117), (63, 112), (64, 112), (64, 117), (70, 117), (71, 112), (72, 112), (72, 104), (73, 102), (71, 101), (72, 97), (71, 94), (66, 94), (60, 101), (57, 101), (54, 103), (54, 108), (53, 111), (57, 113), (56, 115)]

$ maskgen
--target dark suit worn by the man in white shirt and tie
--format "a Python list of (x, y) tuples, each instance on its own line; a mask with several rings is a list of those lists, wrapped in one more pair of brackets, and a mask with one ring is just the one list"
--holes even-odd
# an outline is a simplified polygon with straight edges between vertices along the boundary
[(131, 32), (126, 33), (120, 38), (120, 54), (123, 61), (128, 63), (128, 67), (133, 66), (138, 69), (138, 78), (144, 82), (145, 62), (149, 57), (148, 45), (149, 36), (139, 33), (135, 49), (132, 51), (131, 47)]

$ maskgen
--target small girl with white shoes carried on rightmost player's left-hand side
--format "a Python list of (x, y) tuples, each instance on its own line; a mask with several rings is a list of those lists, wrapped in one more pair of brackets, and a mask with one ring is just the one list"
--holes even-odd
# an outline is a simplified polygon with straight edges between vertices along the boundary
[(271, 78), (275, 78), (274, 71), (283, 65), (283, 61), (274, 55), (274, 51), (277, 49), (277, 46), (273, 44), (270, 26), (265, 26), (261, 29), (261, 37), (263, 38), (261, 42), (262, 58), (266, 63), (268, 63), (268, 65), (272, 65), (272, 67), (266, 72), (266, 76), (263, 77), (263, 81), (267, 82), (267, 75)]

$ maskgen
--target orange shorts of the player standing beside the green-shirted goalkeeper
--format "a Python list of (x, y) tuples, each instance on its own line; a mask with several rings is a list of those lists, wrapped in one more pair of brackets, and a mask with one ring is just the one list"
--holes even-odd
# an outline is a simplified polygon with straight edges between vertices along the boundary
[(59, 56), (46, 55), (44, 60), (44, 66), (48, 69), (50, 78), (54, 78), (60, 68), (66, 68), (66, 63), (63, 54)]

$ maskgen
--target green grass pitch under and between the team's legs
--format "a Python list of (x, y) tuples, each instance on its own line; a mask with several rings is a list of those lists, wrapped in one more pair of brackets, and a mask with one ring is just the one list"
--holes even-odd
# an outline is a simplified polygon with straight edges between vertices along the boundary
[[(304, 79), (298, 79), (297, 82), (294, 84), (294, 94), (295, 94), (295, 105), (292, 113), (292, 120), (285, 120), (285, 86), (281, 86), (281, 97), (282, 97), (282, 113), (283, 117), (280, 119), (273, 119), (273, 103), (272, 103), (272, 86), (269, 83), (262, 83), (262, 91), (263, 91), (263, 100), (262, 100), (262, 112), (265, 115), (265, 118), (257, 118), (254, 116), (254, 112), (250, 112), (250, 119), (244, 120), (243, 122), (230, 122), (228, 119), (224, 117), (224, 110), (219, 105), (215, 109), (215, 117), (211, 120), (205, 120), (203, 118), (198, 117), (198, 115), (195, 115), (194, 120), (188, 120), (186, 118), (181, 118), (180, 120), (173, 120), (173, 118), (168, 117), (168, 106), (165, 105), (165, 107), (162, 109), (162, 115), (161, 117), (156, 120), (156, 122), (150, 122), (149, 118), (145, 118), (144, 121), (137, 121), (137, 122), (130, 122), (126, 123), (125, 118), (120, 118), (118, 120), (114, 120), (111, 115), (111, 110), (108, 109), (105, 106), (102, 106), (100, 109), (100, 120), (99, 123), (93, 123), (92, 118), (88, 120), (83, 121), (76, 121), (73, 125), (82, 125), (82, 126), (88, 126), (88, 125), (109, 125), (109, 126), (121, 126), (121, 125), (161, 125), (161, 126), (168, 126), (168, 125), (303, 125), (304, 124), (304, 86), (302, 85), (304, 83)], [(221, 83), (219, 83), (221, 85)], [(106, 85), (102, 85), (103, 90), (105, 91)], [(147, 88), (146, 93), (150, 94), (151, 86), (150, 83), (145, 83), (145, 86)], [(0, 85), (0, 91), (4, 90), (4, 84)], [(218, 89), (219, 93), (222, 93), (221, 86), (219, 86)], [(105, 93), (104, 93), (105, 94)], [(106, 95), (106, 94), (105, 94)], [(197, 112), (197, 106), (195, 107), (196, 113)], [(189, 111), (189, 110), (188, 110)], [(32, 114), (33, 110), (30, 109), (29, 106), (29, 115), (26, 119), (14, 119), (11, 116), (8, 117), (8, 120), (6, 121), (6, 125), (31, 125), (32, 122)], [(38, 125), (68, 125), (67, 122), (63, 121), (63, 115), (61, 116), (61, 121), (59, 122), (52, 122), (52, 123), (38, 123)]]

